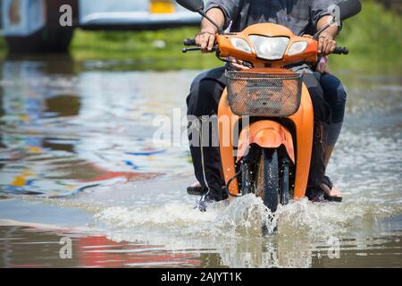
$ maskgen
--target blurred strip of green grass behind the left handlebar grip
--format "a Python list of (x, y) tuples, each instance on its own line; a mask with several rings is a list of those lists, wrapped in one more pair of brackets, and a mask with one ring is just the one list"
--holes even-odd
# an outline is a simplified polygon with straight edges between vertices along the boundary
[(156, 31), (77, 30), (71, 43), (71, 55), (77, 60), (132, 59), (139, 66), (155, 69), (202, 69), (222, 64), (214, 55), (199, 52), (182, 54), (184, 38), (193, 38), (197, 28)]

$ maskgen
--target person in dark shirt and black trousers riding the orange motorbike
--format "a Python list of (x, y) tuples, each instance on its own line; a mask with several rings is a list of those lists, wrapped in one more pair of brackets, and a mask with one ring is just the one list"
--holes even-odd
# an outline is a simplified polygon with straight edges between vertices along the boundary
[[(207, 2), (205, 12), (220, 28), (230, 32), (241, 31), (255, 23), (271, 22), (291, 29), (295, 35), (311, 37), (309, 35), (322, 29), (332, 20), (329, 11), (332, 4), (337, 4), (337, 1), (211, 0)], [(218, 29), (210, 21), (202, 21), (196, 42), (203, 53), (214, 50), (217, 32)], [(320, 34), (318, 49), (323, 59), (337, 46), (334, 38), (338, 32), (338, 26), (331, 26)], [(219, 147), (211, 146), (210, 140), (203, 142), (201, 139), (201, 145), (191, 142), (193, 134), (200, 134), (202, 122), (217, 113), (222, 91), (227, 85), (225, 70), (240, 71), (249, 68), (234, 58), (230, 58), (229, 62), (224, 67), (198, 75), (193, 80), (187, 97), (188, 118), (197, 118), (197, 121), (188, 122), (188, 139), (198, 181), (188, 187), (188, 190), (201, 190), (202, 196), (198, 206), (203, 211), (209, 203), (227, 198), (222, 189), (225, 184), (220, 150)], [(346, 92), (340, 80), (328, 72), (328, 66), (323, 60), (315, 67), (297, 63), (288, 68), (303, 75), (314, 107), (314, 144), (306, 196), (311, 200), (321, 200), (324, 197), (340, 201), (341, 194), (325, 175), (325, 169), (342, 127)], [(195, 129), (198, 132), (193, 132)], [(216, 128), (208, 130), (208, 138), (217, 136)]]

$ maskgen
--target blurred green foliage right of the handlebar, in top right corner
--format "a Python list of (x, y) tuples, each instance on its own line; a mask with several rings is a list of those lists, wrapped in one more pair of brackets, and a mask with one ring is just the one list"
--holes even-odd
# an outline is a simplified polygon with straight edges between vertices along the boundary
[(386, 11), (381, 4), (364, 1), (362, 13), (345, 21), (337, 38), (339, 46), (348, 46), (350, 50), (348, 61), (333, 55), (331, 65), (347, 64), (353, 69), (402, 69), (401, 27), (401, 15)]

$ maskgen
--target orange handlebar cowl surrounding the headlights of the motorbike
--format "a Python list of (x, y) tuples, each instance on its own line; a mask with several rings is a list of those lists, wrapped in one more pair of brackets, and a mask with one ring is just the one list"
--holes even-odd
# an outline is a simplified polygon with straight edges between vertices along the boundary
[[(259, 58), (255, 52), (255, 46), (249, 36), (257, 35), (264, 37), (286, 37), (289, 38), (289, 44), (281, 59), (266, 60)], [(230, 38), (241, 38), (251, 47), (251, 51), (246, 52), (232, 45)], [(242, 32), (218, 35), (216, 41), (219, 46), (219, 55), (222, 57), (233, 56), (239, 60), (253, 63), (255, 67), (283, 67), (291, 63), (315, 63), (317, 61), (317, 41), (313, 38), (295, 36), (292, 31), (281, 25), (264, 23), (255, 24), (247, 27)], [(288, 55), (290, 47), (299, 41), (307, 43), (306, 49), (297, 55)]]

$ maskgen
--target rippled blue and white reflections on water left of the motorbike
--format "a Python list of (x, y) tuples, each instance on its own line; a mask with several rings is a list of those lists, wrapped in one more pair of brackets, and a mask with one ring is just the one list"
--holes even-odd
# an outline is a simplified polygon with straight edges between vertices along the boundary
[(74, 69), (68, 56), (1, 63), (3, 192), (65, 196), (187, 166), (176, 160), (177, 150), (151, 141), (153, 117), (169, 110), (162, 89), (144, 86), (140, 72)]

